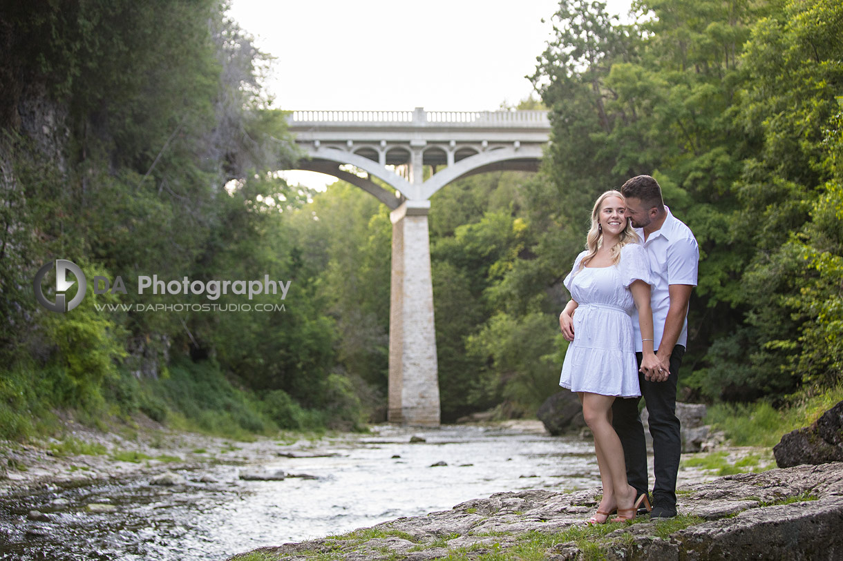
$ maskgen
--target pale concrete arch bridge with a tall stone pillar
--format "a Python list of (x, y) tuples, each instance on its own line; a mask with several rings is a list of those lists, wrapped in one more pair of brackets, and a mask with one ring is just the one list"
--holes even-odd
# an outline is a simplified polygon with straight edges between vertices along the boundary
[(391, 209), (388, 418), (439, 425), (430, 198), (472, 174), (537, 170), (547, 111), (293, 111), (287, 122), (307, 156), (295, 169), (357, 185)]

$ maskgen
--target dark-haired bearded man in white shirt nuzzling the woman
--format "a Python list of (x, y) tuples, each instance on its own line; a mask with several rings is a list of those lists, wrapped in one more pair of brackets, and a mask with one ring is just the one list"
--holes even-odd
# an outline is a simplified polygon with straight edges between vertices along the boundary
[[(658, 366), (639, 373), (642, 397), (647, 403), (652, 435), (655, 484), (652, 489), (652, 518), (676, 516), (676, 475), (682, 440), (676, 418), (676, 383), (688, 340), (688, 301), (696, 286), (699, 248), (690, 228), (664, 206), (662, 189), (649, 175), (629, 179), (621, 188), (626, 199), (626, 216), (636, 228), (653, 275), (653, 342)], [(565, 338), (573, 340), (573, 322), (566, 307), (559, 321)], [(642, 334), (637, 312), (632, 317), (638, 365), (642, 361)], [(647, 493), (647, 444), (638, 415), (641, 398), (615, 399), (612, 425), (624, 448), (626, 478), (636, 495)]]

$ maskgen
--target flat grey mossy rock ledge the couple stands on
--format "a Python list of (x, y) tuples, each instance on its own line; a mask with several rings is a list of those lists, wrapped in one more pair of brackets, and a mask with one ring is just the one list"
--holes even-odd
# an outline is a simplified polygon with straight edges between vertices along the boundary
[(843, 556), (843, 462), (740, 473), (679, 488), (679, 516), (585, 526), (599, 489), (470, 500), (343, 536), (260, 548), (274, 559), (832, 559)]

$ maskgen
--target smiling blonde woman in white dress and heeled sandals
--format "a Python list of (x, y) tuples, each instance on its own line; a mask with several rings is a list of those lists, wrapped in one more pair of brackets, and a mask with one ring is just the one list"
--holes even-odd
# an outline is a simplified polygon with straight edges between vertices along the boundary
[[(652, 350), (649, 261), (625, 214), (619, 191), (606, 191), (594, 203), (588, 249), (577, 255), (565, 279), (572, 300), (560, 316), (562, 333), (572, 343), (559, 385), (577, 392), (583, 403), (603, 484), (603, 499), (590, 524), (604, 524), (615, 511), (618, 516), (611, 521), (631, 520), (642, 502), (650, 510), (647, 494), (636, 500), (635, 488), (626, 481), (624, 451), (611, 419), (615, 398), (641, 395), (632, 342), (635, 308), (643, 340), (641, 370), (658, 365)], [(571, 316), (573, 322), (566, 325)]]

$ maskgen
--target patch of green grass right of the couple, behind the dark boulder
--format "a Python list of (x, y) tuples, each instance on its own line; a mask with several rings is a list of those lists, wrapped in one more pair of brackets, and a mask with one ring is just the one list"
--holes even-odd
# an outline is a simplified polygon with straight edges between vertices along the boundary
[(843, 400), (843, 384), (824, 393), (796, 393), (790, 406), (776, 410), (770, 403), (717, 403), (708, 409), (706, 423), (722, 430), (735, 446), (775, 446), (791, 430), (811, 425)]

